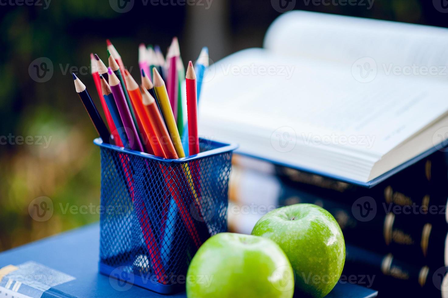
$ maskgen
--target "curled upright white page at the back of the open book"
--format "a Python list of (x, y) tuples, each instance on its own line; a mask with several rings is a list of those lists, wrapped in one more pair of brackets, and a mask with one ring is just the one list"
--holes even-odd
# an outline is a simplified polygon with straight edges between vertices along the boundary
[[(446, 28), (293, 11), (272, 23), (264, 48), (280, 55), (352, 64), (371, 57), (379, 72), (397, 66), (407, 72), (414, 67), (417, 70), (410, 72), (419, 77), (448, 81)], [(425, 67), (434, 74), (425, 74)]]

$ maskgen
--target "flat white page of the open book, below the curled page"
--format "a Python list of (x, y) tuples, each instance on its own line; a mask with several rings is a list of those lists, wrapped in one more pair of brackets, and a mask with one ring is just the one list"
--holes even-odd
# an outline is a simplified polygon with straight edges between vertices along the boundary
[[(378, 74), (362, 83), (351, 65), (249, 49), (209, 71), (199, 127), (219, 123), (235, 135), (244, 131), (266, 139), (292, 131), (297, 146), (374, 161), (441, 117), (447, 94), (448, 84), (439, 81)], [(219, 136), (213, 133), (208, 137)]]

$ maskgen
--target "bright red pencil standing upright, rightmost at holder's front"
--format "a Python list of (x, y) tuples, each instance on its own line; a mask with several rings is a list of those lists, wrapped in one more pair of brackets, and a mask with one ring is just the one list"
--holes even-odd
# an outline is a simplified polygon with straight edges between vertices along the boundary
[(188, 63), (185, 83), (187, 89), (188, 148), (190, 155), (195, 155), (199, 153), (198, 91), (196, 87), (196, 73), (194, 73), (193, 63), (191, 61)]

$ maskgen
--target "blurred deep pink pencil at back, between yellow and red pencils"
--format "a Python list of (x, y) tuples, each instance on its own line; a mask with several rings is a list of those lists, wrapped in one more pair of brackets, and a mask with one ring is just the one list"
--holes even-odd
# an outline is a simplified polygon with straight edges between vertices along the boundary
[[(167, 61), (169, 61), (168, 65), (168, 81), (167, 81), (167, 91), (168, 98), (171, 105), (171, 109), (174, 115), (174, 120), (177, 123), (177, 101), (178, 101), (178, 93), (179, 93), (179, 85), (177, 80), (179, 79), (177, 73), (177, 59), (179, 58), (179, 43), (177, 42), (177, 38), (172, 39), (171, 47), (169, 48), (167, 54)], [(155, 78), (154, 78), (155, 80)]]

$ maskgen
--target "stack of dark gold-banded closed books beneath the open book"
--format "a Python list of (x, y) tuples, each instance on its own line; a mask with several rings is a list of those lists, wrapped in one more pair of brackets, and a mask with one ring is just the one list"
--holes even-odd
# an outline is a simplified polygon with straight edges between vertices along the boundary
[[(230, 179), (229, 230), (250, 233), (270, 210), (296, 203), (327, 209), (346, 242), (340, 282), (442, 297), (448, 253), (448, 167), (436, 152), (365, 188), (237, 155)], [(448, 277), (447, 277), (448, 278)]]

